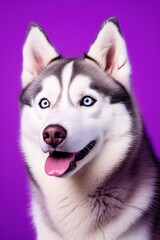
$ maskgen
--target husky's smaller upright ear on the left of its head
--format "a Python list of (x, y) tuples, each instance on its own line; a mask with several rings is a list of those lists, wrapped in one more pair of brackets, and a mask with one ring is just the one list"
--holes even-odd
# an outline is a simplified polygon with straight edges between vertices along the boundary
[(27, 86), (54, 58), (58, 57), (43, 29), (31, 24), (23, 47), (22, 85)]

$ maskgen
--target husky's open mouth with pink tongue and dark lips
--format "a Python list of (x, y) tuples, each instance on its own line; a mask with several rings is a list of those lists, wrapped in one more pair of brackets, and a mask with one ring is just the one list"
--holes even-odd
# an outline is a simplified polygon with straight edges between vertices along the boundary
[(51, 152), (45, 162), (45, 172), (49, 176), (61, 177), (73, 171), (77, 166), (77, 161), (85, 158), (95, 144), (96, 141), (93, 140), (77, 153), (59, 152), (56, 150)]

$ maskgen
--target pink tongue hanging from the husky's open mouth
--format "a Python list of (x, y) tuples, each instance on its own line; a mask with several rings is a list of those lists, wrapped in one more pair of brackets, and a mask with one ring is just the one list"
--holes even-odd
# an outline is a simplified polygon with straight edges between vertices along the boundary
[(74, 160), (75, 154), (69, 154), (66, 157), (57, 157), (50, 155), (45, 162), (45, 172), (49, 176), (62, 176)]

